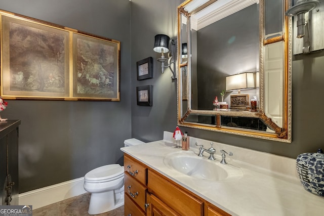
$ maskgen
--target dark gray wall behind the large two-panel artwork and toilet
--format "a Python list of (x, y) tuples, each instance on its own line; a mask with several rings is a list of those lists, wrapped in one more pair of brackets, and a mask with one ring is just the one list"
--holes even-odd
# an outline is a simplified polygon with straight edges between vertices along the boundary
[(83, 177), (109, 163), (131, 138), (130, 10), (128, 0), (1, 0), (0, 9), (121, 44), (120, 102), (8, 101), (2, 117), (21, 119), (19, 192)]

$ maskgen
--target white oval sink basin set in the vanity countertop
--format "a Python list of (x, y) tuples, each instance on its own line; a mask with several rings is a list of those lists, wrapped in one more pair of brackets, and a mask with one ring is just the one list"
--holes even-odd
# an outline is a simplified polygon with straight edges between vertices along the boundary
[(243, 175), (240, 168), (230, 164), (221, 164), (219, 160), (199, 157), (193, 151), (174, 152), (164, 158), (164, 163), (182, 174), (210, 181), (239, 178)]

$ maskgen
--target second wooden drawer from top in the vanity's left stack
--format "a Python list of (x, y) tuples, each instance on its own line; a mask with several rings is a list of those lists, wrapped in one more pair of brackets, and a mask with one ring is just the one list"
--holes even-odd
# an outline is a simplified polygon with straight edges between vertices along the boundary
[(145, 211), (146, 187), (127, 173), (125, 174), (125, 193)]

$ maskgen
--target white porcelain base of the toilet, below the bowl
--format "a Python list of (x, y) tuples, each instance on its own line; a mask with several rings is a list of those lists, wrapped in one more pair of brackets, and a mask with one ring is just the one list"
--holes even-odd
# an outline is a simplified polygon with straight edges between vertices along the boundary
[(88, 213), (100, 214), (122, 205), (124, 205), (124, 190), (119, 193), (115, 193), (114, 191), (92, 193)]

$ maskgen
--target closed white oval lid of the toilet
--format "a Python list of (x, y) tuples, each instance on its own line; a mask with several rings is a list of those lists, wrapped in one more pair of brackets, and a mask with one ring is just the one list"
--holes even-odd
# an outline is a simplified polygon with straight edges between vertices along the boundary
[(115, 177), (120, 177), (124, 175), (124, 166), (120, 166), (119, 164), (109, 164), (105, 166), (100, 166), (89, 171), (85, 180), (87, 181), (102, 181), (115, 179)]

